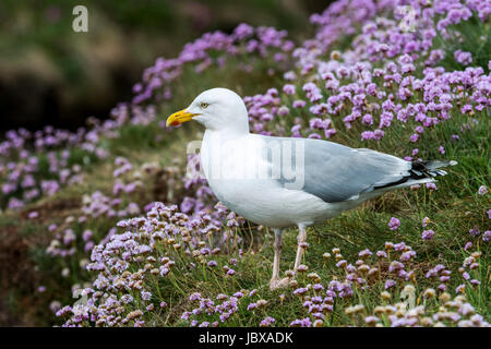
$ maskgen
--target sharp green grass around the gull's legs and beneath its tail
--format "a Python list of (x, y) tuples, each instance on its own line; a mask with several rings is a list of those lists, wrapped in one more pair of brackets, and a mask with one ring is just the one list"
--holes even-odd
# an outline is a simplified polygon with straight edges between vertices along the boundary
[[(371, 251), (383, 250), (385, 241), (405, 241), (418, 253), (415, 270), (427, 272), (436, 264), (444, 264), (452, 270), (456, 270), (463, 263), (465, 253), (464, 244), (469, 240), (468, 230), (475, 225), (479, 225), (482, 230), (489, 222), (486, 205), (489, 202), (476, 194), (480, 184), (487, 183), (489, 173), (489, 163), (486, 154), (489, 149), (488, 130), (489, 122), (481, 120), (475, 128), (463, 134), (460, 142), (451, 143), (450, 135), (458, 133), (459, 125), (467, 121), (464, 116), (454, 116), (452, 122), (446, 125), (438, 135), (439, 143), (434, 139), (424, 139), (419, 147), (427, 158), (451, 158), (459, 161), (459, 166), (450, 170), (450, 174), (438, 182), (439, 189), (430, 192), (428, 189), (420, 189), (417, 192), (398, 190), (388, 193), (378, 200), (371, 201), (362, 207), (342, 214), (339, 217), (331, 219), (326, 224), (309, 229), (308, 242), (310, 249), (304, 256), (304, 264), (309, 266), (309, 272), (318, 273), (323, 282), (328, 281), (333, 276), (343, 277), (344, 272), (335, 266), (335, 261), (324, 261), (324, 252), (339, 248), (344, 257), (351, 263), (358, 260), (357, 254), (362, 249)], [(402, 134), (407, 139), (410, 130), (400, 127)], [(177, 131), (176, 131), (177, 132)], [(391, 134), (398, 134), (395, 130)], [(434, 137), (434, 135), (433, 135)], [(351, 140), (352, 146), (363, 146), (361, 142)], [(446, 155), (442, 156), (435, 149), (443, 144)], [(364, 145), (366, 146), (366, 145)], [(375, 147), (375, 144), (372, 145)], [(399, 142), (398, 136), (384, 139), (378, 148), (390, 154), (404, 156), (412, 148), (411, 144)], [(402, 226), (397, 231), (391, 231), (387, 222), (392, 216), (402, 220)], [(431, 242), (421, 239), (421, 220), (430, 217), (433, 224), (429, 228), (435, 231), (435, 237)], [(176, 291), (172, 285), (167, 285), (163, 292), (173, 294), (177, 300), (175, 308), (170, 306), (170, 312), (166, 313), (164, 322), (161, 317), (156, 317), (156, 324), (176, 325), (180, 324), (177, 317), (182, 313), (182, 308), (191, 309), (188, 304), (187, 296), (194, 291), (214, 299), (219, 292), (232, 294), (240, 289), (259, 289), (259, 298), (270, 301), (265, 310), (251, 314), (246, 310), (247, 302), (241, 303), (239, 316), (232, 317), (229, 326), (256, 326), (266, 314), (276, 318), (276, 325), (288, 325), (292, 318), (307, 316), (302, 315), (301, 302), (298, 298), (289, 294), (287, 290), (270, 291), (268, 281), (271, 278), (273, 264), (273, 234), (267, 232), (264, 238), (254, 237), (253, 249), (250, 249), (251, 241), (243, 232), (246, 242), (242, 248), (247, 251), (235, 269), (238, 272), (233, 280), (226, 280), (220, 277), (220, 273), (197, 270), (191, 275), (182, 275), (176, 281), (182, 290)], [(297, 230), (290, 229), (284, 234), (284, 252), (282, 255), (282, 270), (292, 268), (297, 248)], [(481, 246), (486, 249), (486, 244)], [(479, 279), (483, 282), (476, 293), (468, 294), (471, 304), (477, 312), (489, 316), (489, 256), (484, 253), (479, 269)], [(227, 264), (227, 256), (216, 258), (218, 264)], [(211, 275), (212, 274), (212, 275)], [(448, 284), (448, 291), (452, 293), (455, 287), (462, 284), (462, 277), (453, 272), (452, 281)], [(303, 279), (303, 280), (302, 280)], [(300, 276), (300, 285), (308, 284), (307, 276)], [(424, 278), (418, 278), (415, 285), (417, 290), (424, 290), (428, 282)], [(371, 310), (380, 304), (380, 291), (383, 284), (373, 288), (372, 291), (360, 294), (359, 302), (366, 304)], [(433, 285), (434, 287), (434, 285)], [(279, 296), (287, 294), (282, 302)], [(398, 294), (394, 294), (396, 299)], [(258, 298), (258, 299), (259, 299)], [(181, 303), (183, 302), (183, 303)], [(283, 304), (283, 305), (280, 305)], [(347, 305), (346, 303), (345, 305)], [(355, 302), (356, 304), (356, 302)], [(178, 306), (180, 305), (180, 306)], [(303, 310), (304, 311), (304, 310)], [(169, 316), (169, 317), (167, 317)], [(337, 311), (333, 316), (333, 325), (346, 325), (349, 320), (344, 312)], [(184, 324), (184, 323), (182, 323)]]

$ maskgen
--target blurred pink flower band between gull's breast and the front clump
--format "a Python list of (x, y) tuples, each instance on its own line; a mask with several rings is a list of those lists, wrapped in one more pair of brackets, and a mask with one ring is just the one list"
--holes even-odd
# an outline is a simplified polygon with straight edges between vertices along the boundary
[[(72, 212), (61, 224), (49, 226), (49, 233), (53, 238), (47, 246), (46, 253), (53, 261), (61, 262), (58, 263), (61, 265), (61, 276), (63, 278), (69, 278), (71, 275), (77, 276), (72, 280), (77, 282), (73, 286), (76, 290), (80, 288), (81, 281), (89, 279), (85, 276), (85, 269), (93, 248), (98, 243), (105, 244), (109, 241), (117, 232), (113, 225), (119, 219), (137, 216), (142, 210), (151, 210), (154, 204), (147, 205), (146, 203), (159, 197), (169, 203), (176, 202), (183, 207), (189, 197), (187, 195), (207, 188), (202, 181), (190, 182), (182, 178), (183, 171), (179, 168), (160, 168), (153, 163), (135, 167), (128, 159), (117, 157), (112, 172), (112, 191), (107, 194), (95, 191), (89, 195), (83, 195), (79, 209)], [(169, 184), (173, 184), (172, 191), (169, 191)], [(200, 201), (201, 209), (196, 208), (192, 213), (199, 219), (205, 217), (216, 226), (220, 226), (220, 219), (228, 216), (230, 226), (239, 226), (241, 222), (241, 218), (229, 214), (225, 206), (218, 205), (216, 209), (212, 210), (209, 197), (200, 198), (202, 198)], [(207, 212), (211, 214), (208, 215)], [(37, 216), (37, 212), (29, 214), (29, 218), (33, 219)], [(104, 228), (108, 225), (111, 228)], [(226, 238), (227, 234), (224, 234), (223, 239)], [(213, 264), (213, 261), (209, 263)], [(53, 268), (52, 272), (58, 273), (58, 268)], [(233, 270), (229, 273), (231, 274)], [(59, 303), (59, 301), (52, 300), (51, 303)], [(57, 311), (59, 306), (53, 309)]]

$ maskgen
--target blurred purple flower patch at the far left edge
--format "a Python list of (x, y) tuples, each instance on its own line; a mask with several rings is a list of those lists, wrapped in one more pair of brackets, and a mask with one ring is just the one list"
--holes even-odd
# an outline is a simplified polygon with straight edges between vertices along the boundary
[(23, 208), (61, 186), (83, 181), (77, 157), (105, 158), (107, 152), (91, 133), (46, 127), (43, 131), (9, 131), (0, 143), (1, 207)]

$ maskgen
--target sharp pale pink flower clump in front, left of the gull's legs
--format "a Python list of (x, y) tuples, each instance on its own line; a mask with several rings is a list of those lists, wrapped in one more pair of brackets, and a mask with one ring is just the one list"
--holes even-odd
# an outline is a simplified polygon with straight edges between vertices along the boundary
[[(220, 240), (225, 230), (229, 230), (227, 226), (226, 221), (219, 222), (204, 213), (188, 216), (178, 212), (177, 205), (154, 203), (145, 217), (119, 221), (118, 228), (123, 232), (110, 234), (94, 246), (86, 268), (97, 273), (97, 277), (92, 288), (82, 290), (91, 298), (83, 305), (63, 308), (57, 315), (71, 314), (67, 325), (143, 325), (147, 313), (166, 304), (164, 299), (169, 294), (160, 290), (165, 280), (172, 285), (180, 273), (201, 273), (201, 268), (221, 273), (225, 277), (236, 274), (228, 265), (223, 265), (218, 272), (217, 262), (213, 260), (223, 249), (227, 250)], [(238, 253), (240, 257), (241, 252)], [(229, 264), (237, 264), (237, 258), (230, 258)], [(179, 273), (173, 273), (173, 269)], [(157, 299), (160, 305), (157, 305)], [(229, 299), (226, 296), (219, 298), (225, 299), (227, 301), (219, 305), (203, 300), (201, 308), (192, 313), (201, 313), (204, 308), (211, 312), (214, 306), (214, 314), (219, 313), (225, 322), (237, 310), (238, 294)], [(191, 300), (201, 300), (201, 296), (192, 296)], [(135, 309), (139, 304), (144, 304), (145, 309)], [(184, 313), (182, 316), (188, 318), (189, 315)]]

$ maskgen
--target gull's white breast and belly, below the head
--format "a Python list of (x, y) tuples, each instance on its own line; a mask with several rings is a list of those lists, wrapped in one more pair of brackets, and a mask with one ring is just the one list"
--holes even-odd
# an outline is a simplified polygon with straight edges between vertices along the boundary
[(271, 173), (259, 137), (224, 140), (205, 133), (203, 170), (213, 193), (229, 209), (255, 224), (278, 228), (337, 214), (336, 207), (321, 198), (283, 186)]

